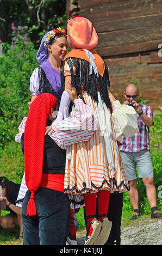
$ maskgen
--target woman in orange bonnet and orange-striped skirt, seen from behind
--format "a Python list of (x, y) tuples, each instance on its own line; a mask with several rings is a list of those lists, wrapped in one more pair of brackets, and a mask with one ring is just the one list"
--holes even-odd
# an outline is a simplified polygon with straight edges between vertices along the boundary
[[(109, 193), (129, 190), (116, 137), (121, 137), (122, 129), (133, 129), (129, 122), (127, 127), (123, 128), (123, 124), (120, 129), (115, 115), (118, 111), (122, 112), (123, 116), (127, 115), (126, 112), (131, 112), (134, 118), (135, 111), (130, 108), (127, 111), (126, 107), (123, 111), (120, 102), (113, 99), (111, 103), (114, 108), (114, 120), (117, 123), (115, 130), (110, 113), (109, 95), (111, 99), (112, 95), (108, 92), (108, 67), (94, 50), (98, 36), (92, 23), (79, 16), (69, 20), (67, 41), (73, 50), (64, 59), (61, 86), (63, 89), (70, 88), (68, 81), (71, 80), (71, 87), (76, 87), (79, 97), (95, 112), (99, 120), (99, 130), (95, 131), (88, 142), (67, 147), (64, 192), (74, 200), (73, 207), (76, 206), (77, 197), (84, 198), (87, 220), (85, 245), (104, 245), (111, 229), (111, 222), (107, 218)], [(65, 102), (60, 106), (61, 109), (66, 107)], [(64, 118), (64, 111), (62, 117)], [(53, 122), (51, 130), (59, 121), (58, 117)], [(137, 130), (134, 118), (133, 132), (136, 133)]]

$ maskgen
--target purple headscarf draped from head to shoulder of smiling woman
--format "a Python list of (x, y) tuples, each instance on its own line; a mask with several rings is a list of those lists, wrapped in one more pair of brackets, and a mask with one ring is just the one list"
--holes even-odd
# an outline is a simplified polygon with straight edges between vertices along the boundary
[(52, 31), (49, 31), (43, 36), (38, 53), (36, 54), (36, 59), (40, 63), (41, 68), (45, 71), (46, 77), (52, 88), (54, 89), (55, 93), (57, 93), (58, 96), (61, 97), (61, 76), (57, 70), (52, 68), (51, 63), (48, 60), (47, 47), (44, 46), (44, 40), (51, 32)]

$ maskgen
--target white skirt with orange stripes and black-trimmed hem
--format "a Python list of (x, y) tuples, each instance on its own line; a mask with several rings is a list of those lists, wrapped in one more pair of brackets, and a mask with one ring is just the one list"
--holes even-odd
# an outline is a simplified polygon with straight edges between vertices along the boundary
[[(98, 103), (85, 92), (83, 97), (94, 110), (99, 128), (89, 141), (70, 145), (66, 149), (64, 192), (69, 195), (71, 202), (76, 201), (75, 196), (98, 190), (109, 190), (111, 193), (129, 190), (111, 113), (99, 92)], [(83, 200), (83, 197), (79, 198), (77, 202)]]

